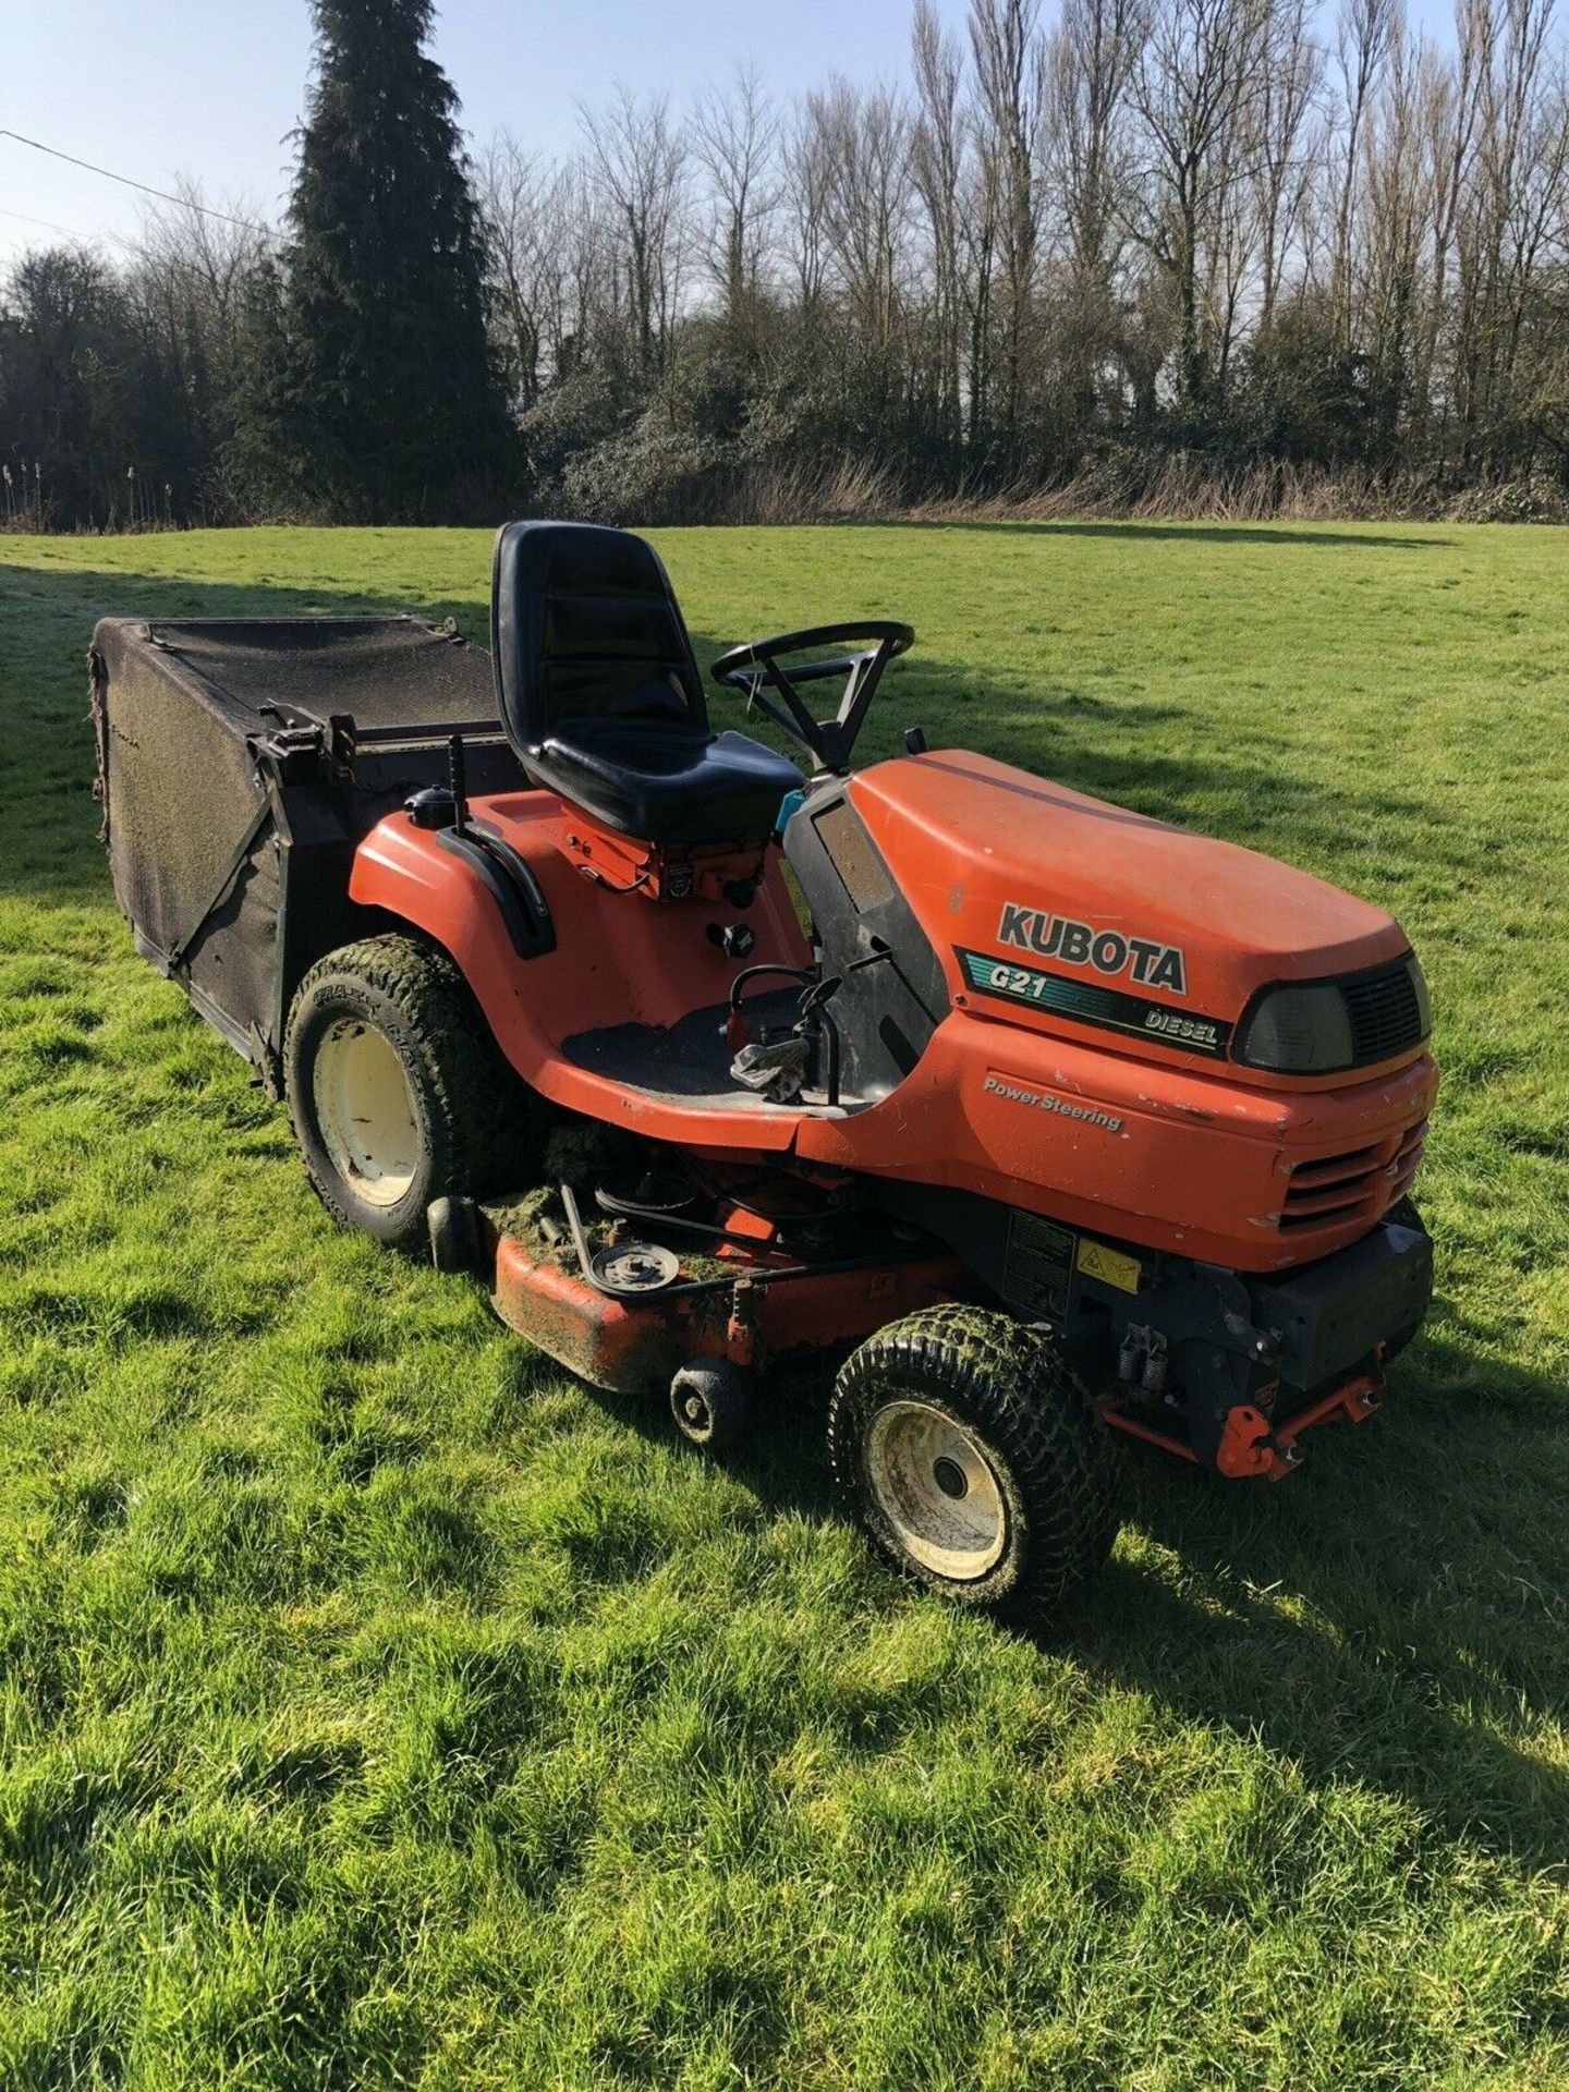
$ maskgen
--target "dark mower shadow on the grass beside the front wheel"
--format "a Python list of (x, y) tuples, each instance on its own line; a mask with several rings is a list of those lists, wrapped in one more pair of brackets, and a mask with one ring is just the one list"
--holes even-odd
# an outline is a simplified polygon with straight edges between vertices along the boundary
[[(1257, 1738), (1312, 1791), (1379, 1791), (1446, 1839), (1565, 1877), (1569, 1776), (1506, 1732), (1565, 1713), (1569, 1561), (1559, 1490), (1529, 1473), (1529, 1446), (1515, 1448), (1525, 1473), (1510, 1460), (1498, 1414), (1554, 1433), (1563, 1389), (1490, 1362), (1483, 1408), (1462, 1347), (1425, 1337), (1408, 1358), (1385, 1414), (1326, 1427), (1282, 1487), (1117, 1441), (1132, 1546), (1027, 1640), (1180, 1722)], [(831, 1379), (782, 1372), (728, 1458), (770, 1513), (837, 1515)], [(594, 1400), (649, 1439), (674, 1435), (657, 1400)]]

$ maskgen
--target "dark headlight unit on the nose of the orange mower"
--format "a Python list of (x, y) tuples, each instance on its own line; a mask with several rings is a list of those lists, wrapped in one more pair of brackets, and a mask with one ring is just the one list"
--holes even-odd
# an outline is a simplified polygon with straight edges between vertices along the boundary
[(1236, 1059), (1278, 1075), (1337, 1075), (1420, 1046), (1433, 1029), (1416, 954), (1339, 981), (1266, 987), (1236, 1029)]

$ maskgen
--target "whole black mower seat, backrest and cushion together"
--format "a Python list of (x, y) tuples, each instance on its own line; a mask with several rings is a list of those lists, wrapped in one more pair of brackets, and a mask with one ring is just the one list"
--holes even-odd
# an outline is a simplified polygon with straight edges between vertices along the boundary
[(596, 523), (506, 523), (490, 613), (496, 699), (536, 784), (646, 843), (766, 837), (801, 772), (715, 734), (655, 548)]

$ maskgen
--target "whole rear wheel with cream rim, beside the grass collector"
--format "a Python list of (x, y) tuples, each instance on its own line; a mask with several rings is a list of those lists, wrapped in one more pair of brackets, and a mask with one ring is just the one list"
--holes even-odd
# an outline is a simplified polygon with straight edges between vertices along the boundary
[(454, 962), (412, 937), (366, 937), (312, 967), (285, 1079), (322, 1205), (395, 1249), (429, 1249), (433, 1201), (527, 1172), (533, 1098)]

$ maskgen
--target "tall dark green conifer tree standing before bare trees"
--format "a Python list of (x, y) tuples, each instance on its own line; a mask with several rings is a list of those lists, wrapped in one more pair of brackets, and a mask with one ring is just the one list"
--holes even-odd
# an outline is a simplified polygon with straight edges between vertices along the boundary
[(297, 496), (360, 521), (471, 521), (513, 429), (483, 234), (431, 0), (314, 0), (289, 205), (274, 429)]

